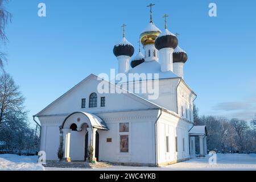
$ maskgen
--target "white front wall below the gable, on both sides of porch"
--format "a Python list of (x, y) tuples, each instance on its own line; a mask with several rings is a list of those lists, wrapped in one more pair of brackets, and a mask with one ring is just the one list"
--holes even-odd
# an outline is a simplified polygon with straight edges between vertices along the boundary
[[(155, 121), (159, 110), (101, 113), (109, 131), (98, 130), (100, 135), (99, 160), (117, 163), (155, 164)], [(42, 123), (41, 149), (47, 160), (58, 160), (59, 126), (65, 116), (39, 117)], [(74, 120), (74, 123), (76, 121)], [(129, 133), (119, 133), (119, 123), (129, 123)], [(67, 123), (67, 125), (70, 125)], [(71, 160), (84, 160), (86, 130), (71, 131)], [(120, 152), (120, 135), (129, 135), (129, 152)], [(106, 139), (112, 138), (112, 143)], [(65, 139), (64, 139), (65, 141)]]

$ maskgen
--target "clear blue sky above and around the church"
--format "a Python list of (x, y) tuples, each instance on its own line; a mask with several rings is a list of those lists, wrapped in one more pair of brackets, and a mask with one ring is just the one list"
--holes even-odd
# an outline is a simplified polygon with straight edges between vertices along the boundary
[[(38, 16), (46, 3), (47, 17)], [(179, 45), (188, 53), (185, 81), (197, 93), (200, 114), (250, 120), (256, 113), (256, 1), (11, 1), (13, 22), (6, 71), (20, 85), (32, 115), (90, 73), (117, 69), (113, 46), (126, 38), (136, 47), (155, 3), (153, 19), (163, 30), (179, 32)], [(208, 5), (217, 4), (210, 18)]]

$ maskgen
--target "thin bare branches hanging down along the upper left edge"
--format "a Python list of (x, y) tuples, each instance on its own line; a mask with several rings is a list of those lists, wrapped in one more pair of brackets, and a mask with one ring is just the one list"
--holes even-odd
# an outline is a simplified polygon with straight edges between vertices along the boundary
[[(9, 0), (0, 0), (0, 40), (2, 43), (6, 43), (7, 37), (5, 34), (6, 24), (11, 21), (11, 14), (5, 9), (5, 2)], [(3, 63), (6, 61), (6, 54), (0, 52), (0, 68), (3, 69)]]

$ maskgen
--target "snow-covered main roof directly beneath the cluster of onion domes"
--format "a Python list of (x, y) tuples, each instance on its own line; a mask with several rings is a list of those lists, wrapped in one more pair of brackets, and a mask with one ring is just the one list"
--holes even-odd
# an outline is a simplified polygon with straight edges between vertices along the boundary
[[(148, 74), (152, 73), (152, 79), (154, 79), (154, 73), (159, 74), (159, 79), (164, 78), (179, 78), (179, 76), (175, 75), (174, 72), (168, 71), (168, 72), (161, 72), (161, 65), (157, 61), (145, 61), (144, 63), (138, 65), (137, 67), (130, 69), (130, 71), (127, 73), (138, 73), (139, 75), (141, 73)], [(143, 79), (142, 79), (143, 80)], [(134, 80), (139, 81), (139, 80)]]

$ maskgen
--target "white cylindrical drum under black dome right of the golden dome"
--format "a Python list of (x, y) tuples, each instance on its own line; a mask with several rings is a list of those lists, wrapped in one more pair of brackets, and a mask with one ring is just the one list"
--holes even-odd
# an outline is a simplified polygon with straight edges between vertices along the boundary
[(159, 50), (162, 72), (174, 71), (172, 64), (172, 53), (174, 53), (174, 49), (169, 47)]

